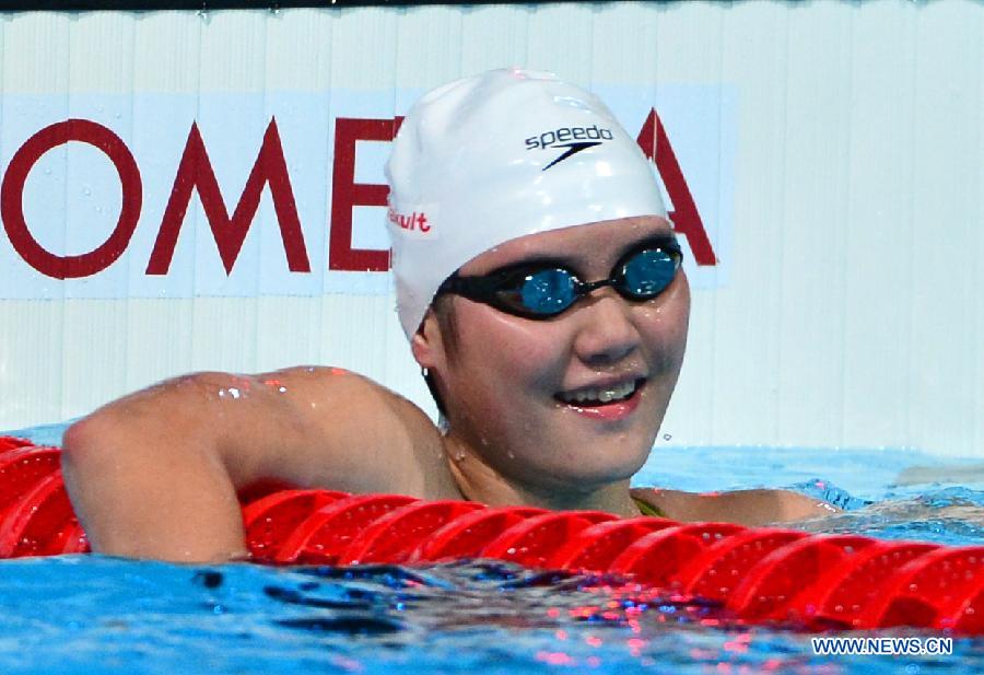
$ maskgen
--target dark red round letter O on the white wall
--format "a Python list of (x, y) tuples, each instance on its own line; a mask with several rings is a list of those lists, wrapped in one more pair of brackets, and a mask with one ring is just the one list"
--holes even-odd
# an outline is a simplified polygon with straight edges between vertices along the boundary
[[(119, 174), (122, 207), (116, 228), (101, 246), (78, 256), (58, 256), (44, 248), (31, 234), (24, 220), (24, 185), (27, 174), (40, 158), (69, 141), (89, 143), (102, 150)], [(31, 267), (55, 279), (91, 277), (109, 267), (122, 255), (137, 230), (143, 205), (140, 170), (129, 148), (107, 127), (89, 119), (67, 119), (45, 127), (21, 146), (10, 161), (0, 185), (0, 218), (14, 249)]]

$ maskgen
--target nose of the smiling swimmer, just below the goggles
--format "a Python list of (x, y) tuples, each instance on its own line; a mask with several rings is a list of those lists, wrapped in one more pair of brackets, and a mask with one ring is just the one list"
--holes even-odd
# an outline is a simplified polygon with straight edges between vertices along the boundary
[(639, 348), (641, 337), (632, 321), (632, 307), (611, 288), (595, 291), (577, 314), (581, 325), (574, 353), (583, 363), (619, 363)]

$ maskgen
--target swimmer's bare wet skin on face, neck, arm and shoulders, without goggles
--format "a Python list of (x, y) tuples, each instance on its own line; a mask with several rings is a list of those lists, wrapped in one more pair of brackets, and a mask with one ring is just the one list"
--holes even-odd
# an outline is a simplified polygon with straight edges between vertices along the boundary
[[(461, 274), (546, 254), (584, 280), (601, 279), (625, 249), (667, 232), (665, 220), (643, 218), (529, 235), (482, 254)], [(236, 492), (260, 479), (637, 515), (629, 478), (649, 453), (686, 347), (682, 271), (651, 301), (604, 288), (550, 321), (458, 296), (449, 302), (457, 339), (431, 311), (411, 345), (438, 380), (446, 434), (365, 377), (307, 366), (178, 377), (70, 427), (62, 468), (94, 548), (185, 561), (242, 556)], [(625, 404), (562, 400), (628, 381), (642, 386)], [(637, 494), (677, 520), (759, 524), (829, 509), (783, 490)]]

